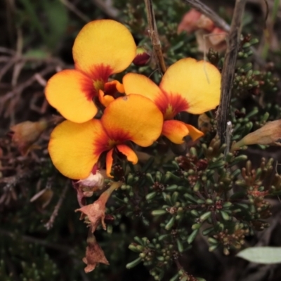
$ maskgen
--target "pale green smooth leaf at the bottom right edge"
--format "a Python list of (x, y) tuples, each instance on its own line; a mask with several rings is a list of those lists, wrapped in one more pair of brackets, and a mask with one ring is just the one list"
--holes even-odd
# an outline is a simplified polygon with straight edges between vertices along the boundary
[(236, 256), (252, 263), (281, 263), (281, 247), (253, 247), (240, 251)]

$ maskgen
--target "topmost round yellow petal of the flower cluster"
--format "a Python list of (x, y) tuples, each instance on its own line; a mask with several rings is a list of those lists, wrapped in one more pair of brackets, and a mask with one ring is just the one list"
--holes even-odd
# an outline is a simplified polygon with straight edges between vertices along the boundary
[(93, 20), (77, 35), (72, 53), (75, 67), (93, 78), (99, 65), (110, 67), (108, 75), (125, 70), (136, 56), (136, 44), (121, 23)]

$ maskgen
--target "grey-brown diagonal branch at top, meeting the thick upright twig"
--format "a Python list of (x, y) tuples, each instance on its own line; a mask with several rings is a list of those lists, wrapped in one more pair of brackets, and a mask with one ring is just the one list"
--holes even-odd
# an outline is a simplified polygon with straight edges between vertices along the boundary
[(222, 30), (225, 30), (226, 32), (230, 31), (230, 26), (228, 25), (228, 23), (225, 20), (223, 20), (217, 13), (211, 10), (211, 8), (203, 4), (201, 1), (199, 0), (183, 0), (183, 1), (188, 2), (190, 6), (200, 11), (204, 15), (207, 15), (207, 17), (214, 22), (216, 27), (220, 27)]

